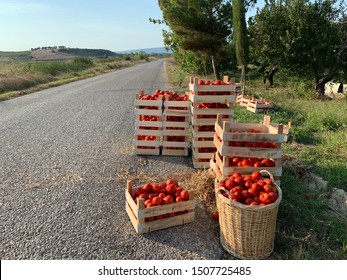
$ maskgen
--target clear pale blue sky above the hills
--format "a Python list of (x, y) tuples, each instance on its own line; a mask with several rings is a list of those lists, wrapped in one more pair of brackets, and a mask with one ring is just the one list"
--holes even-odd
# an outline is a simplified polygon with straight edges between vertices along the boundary
[(0, 0), (0, 51), (162, 47), (165, 27), (150, 17), (162, 18), (157, 0)]

